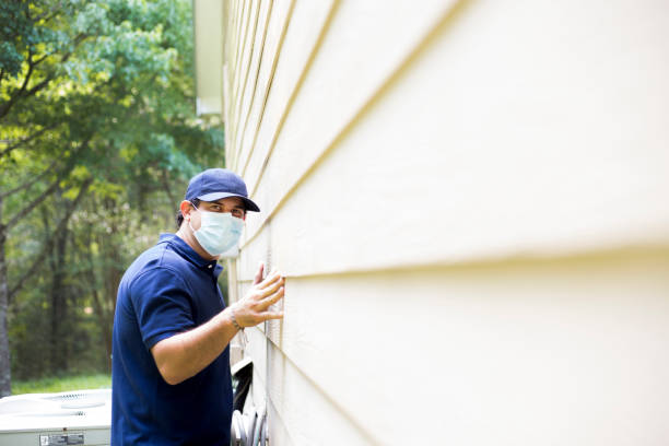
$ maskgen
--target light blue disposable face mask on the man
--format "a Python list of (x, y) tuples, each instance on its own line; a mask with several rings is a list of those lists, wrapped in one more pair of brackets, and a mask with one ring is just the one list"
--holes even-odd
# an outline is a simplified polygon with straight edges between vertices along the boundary
[[(197, 209), (197, 208), (196, 208)], [(230, 212), (200, 211), (200, 228), (192, 231), (196, 239), (211, 256), (219, 256), (232, 248), (242, 236), (244, 220), (232, 216)]]

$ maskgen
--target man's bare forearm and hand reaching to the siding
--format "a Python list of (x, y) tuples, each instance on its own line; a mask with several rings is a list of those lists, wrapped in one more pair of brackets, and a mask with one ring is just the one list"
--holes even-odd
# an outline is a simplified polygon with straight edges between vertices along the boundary
[(163, 339), (151, 348), (155, 364), (167, 384), (179, 384), (211, 364), (237, 332), (233, 315), (242, 327), (269, 319), (281, 319), (283, 313), (268, 308), (283, 297), (284, 279), (280, 272), (262, 280), (260, 266), (254, 286), (247, 295), (192, 330)]

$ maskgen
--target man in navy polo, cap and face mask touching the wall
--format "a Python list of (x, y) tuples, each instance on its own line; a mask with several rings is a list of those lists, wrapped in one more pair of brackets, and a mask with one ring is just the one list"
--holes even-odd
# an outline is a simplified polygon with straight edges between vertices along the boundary
[(219, 256), (259, 209), (234, 173), (195, 176), (177, 216), (128, 268), (118, 289), (111, 366), (113, 445), (228, 445), (232, 383), (228, 343), (244, 327), (283, 317), (279, 272), (225, 307)]

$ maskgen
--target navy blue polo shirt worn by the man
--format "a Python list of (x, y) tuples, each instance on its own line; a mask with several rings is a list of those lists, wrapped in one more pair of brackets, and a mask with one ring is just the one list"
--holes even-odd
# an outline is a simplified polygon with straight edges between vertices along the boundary
[(151, 348), (207, 322), (225, 304), (223, 268), (174, 234), (128, 268), (118, 287), (111, 360), (113, 445), (228, 445), (230, 351), (177, 385), (161, 376)]

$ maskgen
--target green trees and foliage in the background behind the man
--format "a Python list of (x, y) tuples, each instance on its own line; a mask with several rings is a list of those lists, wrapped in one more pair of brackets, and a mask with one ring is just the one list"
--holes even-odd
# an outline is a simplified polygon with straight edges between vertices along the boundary
[(193, 115), (190, 8), (0, 5), (0, 281), (15, 290), (16, 377), (108, 371), (125, 268), (174, 228), (187, 179), (223, 164), (222, 129)]

